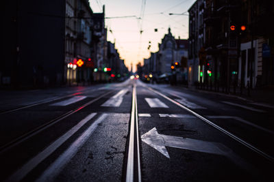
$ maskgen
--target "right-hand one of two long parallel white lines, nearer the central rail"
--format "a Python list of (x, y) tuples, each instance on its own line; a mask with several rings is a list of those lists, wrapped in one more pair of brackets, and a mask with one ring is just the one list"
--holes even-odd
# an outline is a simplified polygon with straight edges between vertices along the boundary
[(107, 117), (108, 114), (103, 114), (101, 117), (99, 117), (94, 123), (88, 127), (88, 129), (81, 135), (77, 140), (73, 142), (73, 144), (69, 147), (69, 149), (66, 149), (60, 157), (58, 157), (57, 160), (47, 168), (43, 172), (43, 174), (37, 179), (36, 181), (53, 181), (56, 176), (60, 173), (60, 171), (64, 168), (64, 166), (71, 160), (71, 158), (77, 153), (77, 151), (84, 145), (86, 140), (90, 137), (90, 135), (95, 131), (99, 123)]

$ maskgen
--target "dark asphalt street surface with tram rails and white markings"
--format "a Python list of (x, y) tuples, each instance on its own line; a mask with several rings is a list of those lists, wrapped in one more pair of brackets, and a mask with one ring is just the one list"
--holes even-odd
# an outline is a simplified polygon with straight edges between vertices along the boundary
[(270, 104), (138, 79), (0, 97), (0, 181), (274, 180)]

